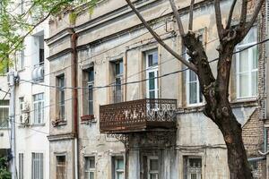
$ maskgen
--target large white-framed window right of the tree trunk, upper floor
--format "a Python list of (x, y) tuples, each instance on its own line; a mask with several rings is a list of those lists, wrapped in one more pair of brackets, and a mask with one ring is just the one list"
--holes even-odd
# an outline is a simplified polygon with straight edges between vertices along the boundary
[[(246, 38), (239, 43), (236, 51), (256, 44), (256, 28), (249, 30)], [(237, 97), (252, 98), (257, 95), (257, 47), (242, 50), (236, 55)]]

